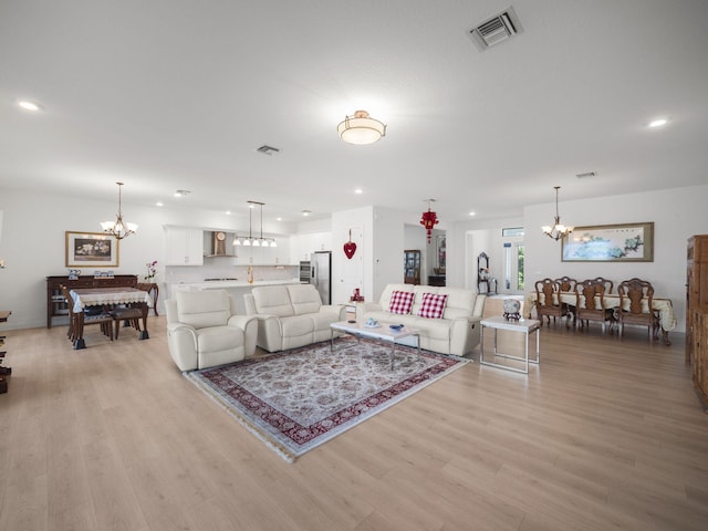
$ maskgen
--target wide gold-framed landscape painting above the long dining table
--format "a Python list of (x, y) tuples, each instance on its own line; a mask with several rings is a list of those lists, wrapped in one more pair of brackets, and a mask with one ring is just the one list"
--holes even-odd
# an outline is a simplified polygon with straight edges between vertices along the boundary
[(654, 222), (575, 227), (561, 240), (563, 262), (653, 262)]

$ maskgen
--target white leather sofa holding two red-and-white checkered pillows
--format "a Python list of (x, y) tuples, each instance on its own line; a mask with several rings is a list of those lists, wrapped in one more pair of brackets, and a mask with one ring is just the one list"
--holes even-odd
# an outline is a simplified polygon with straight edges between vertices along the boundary
[[(413, 292), (410, 311), (392, 313), (391, 300), (396, 291)], [(425, 293), (447, 295), (440, 319), (419, 316)], [(356, 319), (365, 322), (369, 317), (386, 324), (405, 324), (420, 330), (420, 347), (442, 354), (464, 356), (475, 348), (481, 339), (481, 325), (486, 295), (461, 288), (437, 288), (431, 285), (388, 284), (378, 302), (356, 304)]]

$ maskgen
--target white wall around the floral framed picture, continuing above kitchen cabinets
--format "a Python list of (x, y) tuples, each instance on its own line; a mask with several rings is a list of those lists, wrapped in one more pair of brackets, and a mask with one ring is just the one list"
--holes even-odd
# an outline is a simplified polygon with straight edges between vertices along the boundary
[[(6, 329), (46, 325), (46, 277), (65, 275), (65, 231), (101, 232), (100, 221), (114, 220), (117, 202), (27, 194), (0, 189), (3, 211), (0, 258), (0, 308), (12, 310)], [(239, 219), (208, 211), (175, 210), (123, 202), (127, 221), (139, 226), (138, 232), (119, 242), (116, 274), (145, 274), (145, 263), (158, 261), (157, 282), (165, 281), (164, 225), (221, 228), (243, 232), (248, 218)], [(294, 226), (264, 227), (264, 233), (294, 233)], [(270, 229), (270, 230), (269, 230)], [(260, 226), (259, 226), (260, 230)], [(94, 268), (83, 268), (93, 274)], [(162, 291), (162, 290), (160, 290)], [(162, 298), (160, 298), (162, 299)], [(162, 302), (162, 301), (160, 301)]]

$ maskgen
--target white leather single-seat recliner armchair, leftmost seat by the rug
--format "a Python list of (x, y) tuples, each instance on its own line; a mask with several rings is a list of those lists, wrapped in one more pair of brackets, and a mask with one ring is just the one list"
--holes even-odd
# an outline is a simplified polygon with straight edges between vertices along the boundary
[(256, 352), (258, 321), (237, 315), (226, 290), (178, 291), (165, 308), (169, 354), (183, 372), (239, 362)]

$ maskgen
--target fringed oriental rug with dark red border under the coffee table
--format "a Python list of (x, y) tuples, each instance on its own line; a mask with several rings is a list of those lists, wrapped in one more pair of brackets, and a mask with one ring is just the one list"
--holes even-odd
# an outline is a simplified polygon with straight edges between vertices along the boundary
[(461, 367), (469, 360), (344, 336), (334, 343), (185, 375), (285, 460)]

